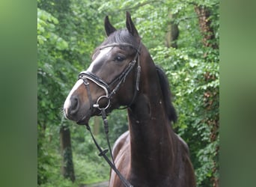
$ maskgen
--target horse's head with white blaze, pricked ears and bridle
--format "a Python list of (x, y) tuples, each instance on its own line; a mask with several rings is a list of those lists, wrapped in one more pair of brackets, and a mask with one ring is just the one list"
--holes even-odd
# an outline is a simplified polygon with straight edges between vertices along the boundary
[[(117, 30), (105, 18), (106, 40), (94, 50), (91, 65), (79, 78), (64, 102), (64, 114), (78, 124), (130, 105), (138, 91), (141, 39), (127, 12), (127, 28)], [(137, 85), (137, 86), (136, 86)]]

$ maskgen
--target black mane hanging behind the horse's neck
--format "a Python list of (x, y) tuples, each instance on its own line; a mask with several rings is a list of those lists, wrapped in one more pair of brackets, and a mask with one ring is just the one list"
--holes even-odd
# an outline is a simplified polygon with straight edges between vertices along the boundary
[(156, 66), (156, 72), (159, 77), (159, 84), (162, 90), (163, 99), (165, 101), (165, 112), (168, 116), (168, 119), (175, 123), (177, 121), (177, 113), (171, 103), (171, 90), (169, 87), (167, 76), (165, 76), (165, 72), (162, 70), (161, 67)]

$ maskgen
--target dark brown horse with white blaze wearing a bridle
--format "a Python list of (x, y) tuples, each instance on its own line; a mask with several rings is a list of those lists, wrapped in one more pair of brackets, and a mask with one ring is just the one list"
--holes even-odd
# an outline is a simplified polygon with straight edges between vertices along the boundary
[[(193, 187), (189, 147), (175, 134), (177, 120), (168, 79), (154, 64), (127, 12), (126, 28), (105, 18), (107, 38), (64, 102), (64, 115), (79, 125), (92, 116), (127, 108), (129, 131), (115, 141), (113, 165), (130, 186)], [(114, 169), (109, 186), (126, 186)]]

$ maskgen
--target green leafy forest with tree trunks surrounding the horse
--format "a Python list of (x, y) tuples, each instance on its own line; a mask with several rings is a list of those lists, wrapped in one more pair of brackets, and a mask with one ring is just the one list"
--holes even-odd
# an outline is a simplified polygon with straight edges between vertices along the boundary
[[(61, 108), (106, 37), (104, 17), (124, 28), (126, 10), (168, 76), (179, 117), (173, 128), (189, 145), (198, 186), (219, 186), (219, 1), (38, 0), (37, 7), (38, 186), (108, 180), (89, 133)], [(90, 124), (105, 147), (100, 119)], [(113, 112), (109, 124), (113, 144), (127, 130), (126, 112)]]

